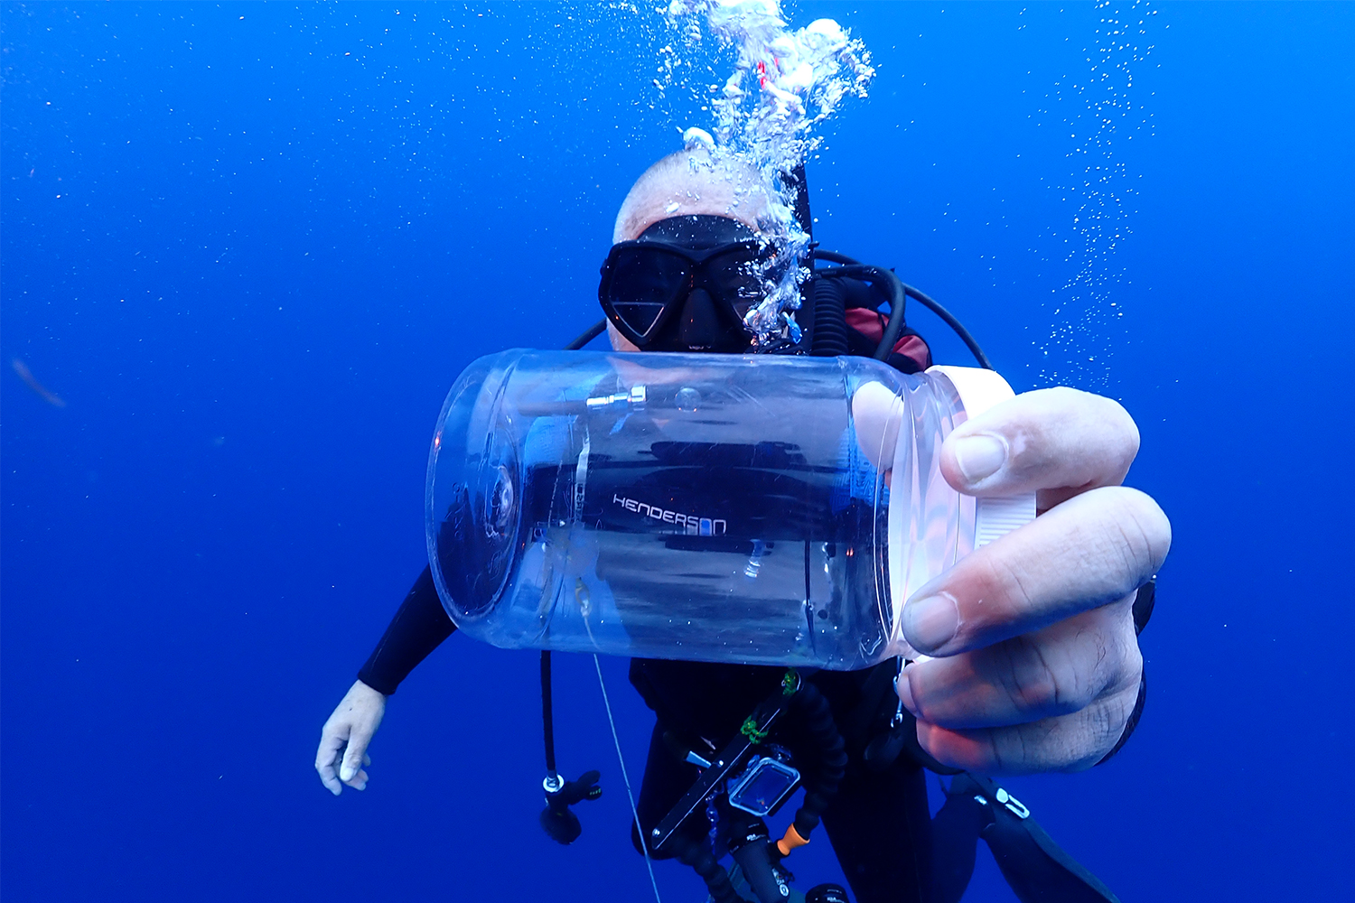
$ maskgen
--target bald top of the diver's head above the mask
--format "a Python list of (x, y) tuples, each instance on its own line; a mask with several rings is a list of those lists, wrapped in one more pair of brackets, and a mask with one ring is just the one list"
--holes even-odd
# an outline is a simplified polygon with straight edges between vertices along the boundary
[(612, 242), (633, 241), (669, 217), (705, 214), (737, 219), (757, 232), (767, 195), (751, 165), (705, 148), (671, 153), (640, 176), (621, 203)]

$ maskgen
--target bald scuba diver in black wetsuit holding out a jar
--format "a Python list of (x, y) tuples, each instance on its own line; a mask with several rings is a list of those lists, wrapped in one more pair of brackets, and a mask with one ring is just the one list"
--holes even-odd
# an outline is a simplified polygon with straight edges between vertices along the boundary
[[(797, 177), (808, 232), (802, 169)], [(812, 259), (837, 265), (806, 282), (804, 336), (755, 348), (744, 314), (762, 299), (764, 283), (748, 273), (768, 256), (767, 215), (757, 173), (734, 161), (688, 148), (650, 167), (622, 203), (602, 267), (612, 348), (866, 355), (919, 372), (931, 352), (904, 325), (906, 292), (986, 366), (930, 298), (890, 271), (818, 249)], [(906, 601), (904, 636), (930, 658), (812, 674), (633, 659), (630, 681), (656, 715), (634, 801), (637, 850), (691, 865), (720, 903), (794, 900), (785, 860), (821, 823), (859, 903), (951, 903), (982, 838), (1023, 902), (1114, 900), (991, 776), (1093, 766), (1138, 722), (1146, 682), (1137, 635), (1171, 527), (1152, 498), (1121, 485), (1137, 449), (1118, 403), (1072, 389), (1024, 393), (951, 432), (942, 472), (955, 490), (1034, 491), (1039, 516)], [(331, 792), (366, 787), (385, 699), (454, 631), (425, 569), (322, 728), (316, 769)], [(568, 781), (556, 770), (549, 661), (543, 653), (541, 823), (569, 843), (580, 831), (570, 807), (602, 791), (596, 772)], [(935, 818), (928, 770), (950, 780)], [(778, 839), (766, 818), (798, 787), (802, 803)], [(725, 854), (733, 872), (720, 865)], [(835, 885), (804, 898), (847, 899)]]

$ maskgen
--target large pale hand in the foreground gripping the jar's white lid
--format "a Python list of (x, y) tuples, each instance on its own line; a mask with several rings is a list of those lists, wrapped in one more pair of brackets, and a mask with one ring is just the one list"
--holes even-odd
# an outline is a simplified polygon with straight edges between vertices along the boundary
[(1118, 403), (1046, 389), (995, 405), (942, 447), (970, 495), (1037, 493), (1033, 523), (967, 555), (902, 611), (936, 658), (900, 699), (939, 761), (982, 774), (1077, 770), (1119, 741), (1142, 677), (1134, 592), (1161, 566), (1171, 524), (1121, 486), (1138, 429)]

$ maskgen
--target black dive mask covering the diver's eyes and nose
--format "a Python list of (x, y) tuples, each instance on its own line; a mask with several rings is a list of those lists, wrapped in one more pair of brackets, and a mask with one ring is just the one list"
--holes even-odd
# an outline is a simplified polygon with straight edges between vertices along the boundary
[(642, 351), (748, 351), (744, 314), (763, 296), (772, 248), (728, 217), (660, 219), (612, 245), (598, 299)]

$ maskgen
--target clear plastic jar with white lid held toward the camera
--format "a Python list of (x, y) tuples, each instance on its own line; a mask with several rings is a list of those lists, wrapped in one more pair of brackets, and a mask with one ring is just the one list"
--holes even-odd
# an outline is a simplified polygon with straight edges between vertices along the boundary
[(942, 478), (962, 395), (1011, 389), (867, 357), (481, 357), (428, 462), (438, 592), (457, 627), (509, 648), (911, 658), (904, 600), (1035, 513), (1033, 495), (976, 505)]

